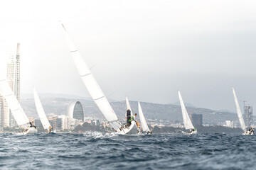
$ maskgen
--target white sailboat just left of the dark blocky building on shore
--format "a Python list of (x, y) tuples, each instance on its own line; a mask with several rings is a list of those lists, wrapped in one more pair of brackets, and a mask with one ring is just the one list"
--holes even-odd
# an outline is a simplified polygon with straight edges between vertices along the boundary
[(193, 127), (193, 124), (191, 123), (191, 119), (188, 116), (188, 112), (186, 111), (186, 107), (181, 98), (180, 91), (178, 91), (178, 98), (181, 103), (181, 112), (182, 112), (182, 118), (183, 118), (183, 123), (184, 123), (185, 129), (190, 130), (190, 132), (186, 133), (186, 135), (195, 135), (195, 134), (197, 134), (197, 130), (196, 130), (196, 128)]

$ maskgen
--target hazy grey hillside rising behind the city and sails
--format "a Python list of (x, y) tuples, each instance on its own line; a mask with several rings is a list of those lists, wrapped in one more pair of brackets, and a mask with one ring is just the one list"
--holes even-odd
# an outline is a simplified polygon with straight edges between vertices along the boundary
[[(66, 115), (69, 103), (74, 100), (74, 98), (43, 97), (43, 95), (39, 96), (41, 96), (41, 102), (44, 110), (46, 111), (46, 115), (50, 113), (54, 113), (55, 115)], [(79, 97), (75, 98), (75, 100), (82, 103), (86, 117), (105, 119), (93, 101), (78, 98)], [(117, 114), (117, 117), (119, 119), (124, 119), (127, 109), (125, 101), (110, 102), (110, 105)], [(130, 101), (130, 105), (132, 107), (133, 113), (138, 113), (137, 101)], [(181, 107), (179, 105), (146, 102), (141, 102), (141, 105), (146, 120), (163, 120), (169, 121), (170, 124), (181, 123), (183, 121), (181, 115)], [(22, 98), (21, 106), (29, 117), (38, 118), (33, 98)], [(235, 123), (238, 123), (238, 116), (235, 113), (213, 111), (207, 108), (195, 108), (188, 106), (186, 106), (186, 109), (189, 115), (193, 113), (202, 114), (204, 124), (220, 125), (220, 123), (224, 123), (225, 120), (231, 120)]]

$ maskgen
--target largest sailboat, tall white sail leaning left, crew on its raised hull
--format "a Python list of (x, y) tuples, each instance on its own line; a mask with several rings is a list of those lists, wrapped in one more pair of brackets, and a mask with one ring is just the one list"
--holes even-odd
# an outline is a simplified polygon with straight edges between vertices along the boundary
[(90, 72), (90, 69), (87, 67), (87, 64), (82, 59), (80, 52), (75, 47), (73, 42), (70, 40), (69, 35), (65, 30), (64, 26), (63, 30), (65, 32), (65, 38), (68, 42), (70, 55), (73, 58), (73, 61), (75, 62), (75, 66), (78, 69), (80, 77), (83, 83), (85, 84), (85, 87), (87, 88), (87, 91), (89, 92), (93, 101), (95, 101), (97, 107), (100, 109), (102, 114), (107, 119), (108, 123), (110, 123), (110, 125), (117, 134), (127, 134), (127, 132), (132, 130), (132, 128), (134, 127), (135, 121), (132, 121), (131, 125), (129, 126), (122, 125), (120, 120), (117, 118), (117, 115), (114, 113), (112, 107), (110, 106), (110, 103), (107, 101), (106, 96), (103, 94), (102, 89), (100, 89), (99, 84), (97, 84), (95, 77), (93, 77), (92, 72)]

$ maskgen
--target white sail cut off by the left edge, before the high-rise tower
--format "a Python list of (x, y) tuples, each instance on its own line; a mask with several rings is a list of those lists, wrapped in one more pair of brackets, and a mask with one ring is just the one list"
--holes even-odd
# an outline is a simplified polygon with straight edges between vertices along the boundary
[(28, 117), (24, 113), (23, 109), (21, 108), (20, 103), (18, 102), (16, 96), (14, 95), (14, 92), (11, 90), (11, 87), (9, 86), (6, 79), (0, 80), (0, 86), (2, 90), (2, 95), (6, 99), (6, 102), (11, 109), (12, 115), (14, 115), (14, 119), (16, 120), (16, 123), (21, 125), (26, 125), (29, 123)]

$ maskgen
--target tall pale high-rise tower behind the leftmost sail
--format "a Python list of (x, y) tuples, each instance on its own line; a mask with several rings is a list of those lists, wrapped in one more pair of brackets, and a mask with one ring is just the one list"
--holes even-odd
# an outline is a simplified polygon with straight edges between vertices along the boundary
[[(20, 98), (20, 55), (19, 55), (19, 46), (20, 44), (17, 44), (17, 51), (16, 56), (10, 55), (7, 60), (7, 74), (6, 79), (9, 82), (9, 85), (11, 86), (12, 91), (14, 91), (14, 94), (16, 98), (18, 99), (18, 102), (21, 100)], [(0, 96), (0, 105), (3, 107), (1, 110), (0, 115), (3, 116), (3, 125), (4, 127), (14, 127), (16, 125), (16, 122), (14, 120), (14, 116), (11, 114), (11, 111), (8, 107), (8, 104), (6, 100)]]

